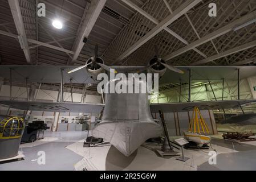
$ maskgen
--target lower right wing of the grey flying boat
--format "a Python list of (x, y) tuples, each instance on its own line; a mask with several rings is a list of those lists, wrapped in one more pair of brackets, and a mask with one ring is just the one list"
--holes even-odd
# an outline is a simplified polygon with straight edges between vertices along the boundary
[(205, 102), (178, 102), (178, 103), (164, 103), (164, 104), (151, 104), (151, 112), (158, 113), (159, 110), (164, 113), (173, 111), (188, 111), (193, 110), (194, 106), (202, 110), (208, 109), (231, 109), (237, 108), (239, 105), (246, 106), (256, 103), (256, 100), (229, 100), (229, 101), (205, 101)]

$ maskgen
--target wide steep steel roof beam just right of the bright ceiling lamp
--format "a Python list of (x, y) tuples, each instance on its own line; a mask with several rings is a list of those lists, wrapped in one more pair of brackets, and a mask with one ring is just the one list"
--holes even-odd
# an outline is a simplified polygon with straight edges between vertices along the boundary
[(97, 20), (97, 18), (100, 15), (101, 10), (103, 9), (105, 2), (107, 0), (94, 0), (91, 1), (89, 9), (86, 13), (86, 17), (84, 18), (82, 22), (81, 30), (79, 30), (79, 34), (77, 36), (76, 42), (74, 43), (74, 51), (75, 54), (73, 56), (72, 61), (69, 61), (72, 64), (73, 61), (78, 59), (78, 56), (80, 52), (82, 51), (82, 48), (84, 46), (83, 39), (88, 38), (90, 35), (92, 28), (94, 27), (94, 24)]

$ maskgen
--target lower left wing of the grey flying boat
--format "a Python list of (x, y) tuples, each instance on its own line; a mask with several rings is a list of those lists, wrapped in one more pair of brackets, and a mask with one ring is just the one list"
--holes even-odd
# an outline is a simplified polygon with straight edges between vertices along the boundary
[(72, 102), (32, 102), (32, 101), (6, 101), (0, 100), (0, 106), (20, 110), (74, 112), (74, 113), (100, 113), (104, 104), (82, 104)]

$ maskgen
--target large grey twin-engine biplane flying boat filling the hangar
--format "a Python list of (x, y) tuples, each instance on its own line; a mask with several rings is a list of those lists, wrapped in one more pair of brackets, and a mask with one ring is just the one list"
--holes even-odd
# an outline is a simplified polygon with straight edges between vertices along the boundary
[[(201, 75), (209, 78), (225, 77), (229, 71), (237, 67), (173, 67), (166, 64), (156, 51), (156, 56), (146, 66), (108, 66), (104, 60), (95, 55), (86, 61), (85, 65), (76, 66), (2, 66), (0, 77), (10, 79), (10, 71), (15, 71), (12, 79), (24, 81), (27, 78), (30, 82), (70, 82), (70, 78), (77, 83), (97, 83), (97, 75), (115, 69), (117, 73), (158, 73), (159, 78), (165, 83), (176, 81), (182, 75), (188, 77), (188, 69), (200, 71)], [(245, 68), (245, 73), (247, 68)], [(255, 75), (255, 68), (249, 68), (254, 72), (247, 72)], [(66, 73), (66, 74), (64, 74)], [(184, 74), (182, 74), (184, 73)], [(222, 74), (217, 76), (218, 74)], [(22, 76), (21, 76), (22, 75)], [(248, 76), (248, 75), (246, 75)], [(127, 78), (129, 79), (129, 78)], [(193, 79), (197, 80), (195, 76)], [(198, 78), (199, 79), (199, 78)], [(109, 80), (114, 84), (125, 80)], [(140, 81), (144, 84), (143, 81)], [(163, 84), (163, 83), (162, 83)], [(135, 86), (135, 85), (133, 85)], [(62, 96), (63, 97), (63, 96)], [(62, 98), (63, 101), (63, 98)], [(92, 130), (92, 136), (103, 138), (110, 142), (125, 156), (131, 155), (142, 143), (149, 138), (160, 137), (162, 128), (157, 124), (151, 113), (188, 111), (194, 106), (200, 109), (225, 109), (239, 107), (256, 102), (256, 100), (229, 100), (229, 101), (204, 101), (204, 102), (179, 102), (166, 104), (149, 104), (148, 93), (105, 93), (104, 104), (88, 104), (75, 102), (38, 102), (38, 101), (16, 101), (0, 100), (2, 106), (21, 110), (35, 111), (57, 111), (57, 112), (84, 112), (100, 113), (103, 110), (101, 122)]]

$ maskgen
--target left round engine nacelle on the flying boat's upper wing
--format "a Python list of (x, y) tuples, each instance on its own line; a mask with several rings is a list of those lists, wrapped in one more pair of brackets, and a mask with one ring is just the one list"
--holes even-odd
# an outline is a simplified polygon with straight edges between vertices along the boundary
[[(86, 64), (91, 63), (92, 59), (95, 59), (96, 63), (104, 64), (103, 59), (101, 59), (100, 57), (94, 57), (94, 58), (88, 59)], [(94, 64), (94, 63), (88, 65), (86, 67), (86, 69), (87, 69), (87, 72), (89, 72), (90, 75), (94, 78), (94, 80), (97, 80), (97, 75), (99, 75), (100, 73), (105, 72), (105, 70), (103, 68), (101, 68), (100, 65), (97, 65), (97, 64)]]

